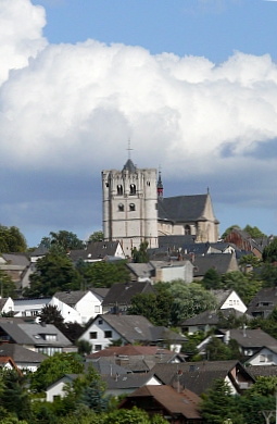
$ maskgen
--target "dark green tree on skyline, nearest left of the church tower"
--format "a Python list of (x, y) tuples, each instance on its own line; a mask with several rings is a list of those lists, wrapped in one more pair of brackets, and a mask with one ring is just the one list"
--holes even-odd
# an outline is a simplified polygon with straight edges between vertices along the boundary
[(76, 234), (61, 229), (58, 233), (50, 232), (48, 237), (43, 237), (40, 241), (50, 251), (67, 252), (70, 250), (85, 249), (86, 245)]

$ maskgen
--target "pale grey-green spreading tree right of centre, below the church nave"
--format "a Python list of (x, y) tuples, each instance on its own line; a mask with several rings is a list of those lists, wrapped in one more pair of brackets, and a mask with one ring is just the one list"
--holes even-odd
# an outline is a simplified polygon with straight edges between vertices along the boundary
[(174, 298), (172, 307), (172, 325), (217, 307), (216, 298), (198, 283), (171, 283), (168, 291)]

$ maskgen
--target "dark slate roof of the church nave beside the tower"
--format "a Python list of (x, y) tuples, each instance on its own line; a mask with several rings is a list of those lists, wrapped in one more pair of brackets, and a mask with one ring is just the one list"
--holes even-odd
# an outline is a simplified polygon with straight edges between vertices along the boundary
[(158, 199), (158, 216), (160, 220), (172, 222), (191, 222), (204, 220), (202, 216), (205, 210), (209, 195), (176, 196)]

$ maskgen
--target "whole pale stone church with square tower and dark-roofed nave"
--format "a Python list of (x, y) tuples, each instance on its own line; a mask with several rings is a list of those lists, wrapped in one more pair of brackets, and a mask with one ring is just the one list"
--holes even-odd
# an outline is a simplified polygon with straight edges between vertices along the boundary
[(210, 192), (164, 197), (161, 173), (138, 169), (130, 158), (121, 171), (102, 171), (104, 240), (119, 240), (126, 255), (141, 241), (159, 247), (159, 236), (194, 236), (215, 242), (218, 225)]

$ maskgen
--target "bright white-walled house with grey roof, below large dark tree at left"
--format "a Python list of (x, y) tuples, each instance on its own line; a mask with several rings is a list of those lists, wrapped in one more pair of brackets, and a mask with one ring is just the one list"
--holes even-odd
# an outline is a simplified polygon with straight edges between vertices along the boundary
[(102, 313), (102, 298), (90, 290), (58, 291), (50, 304), (56, 307), (64, 322), (86, 324), (91, 317)]

